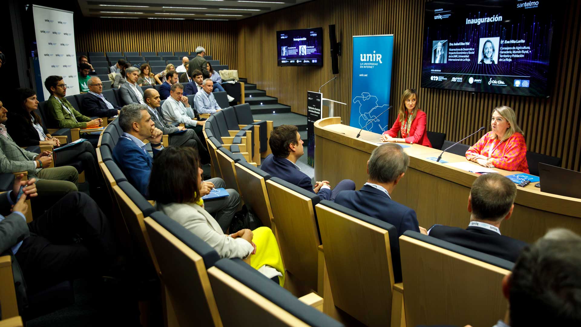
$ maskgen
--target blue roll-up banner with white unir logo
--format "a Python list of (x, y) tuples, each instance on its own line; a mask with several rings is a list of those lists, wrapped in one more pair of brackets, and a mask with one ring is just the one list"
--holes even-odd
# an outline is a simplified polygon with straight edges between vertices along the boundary
[(383, 133), (389, 129), (393, 34), (353, 36), (353, 86), (349, 125)]

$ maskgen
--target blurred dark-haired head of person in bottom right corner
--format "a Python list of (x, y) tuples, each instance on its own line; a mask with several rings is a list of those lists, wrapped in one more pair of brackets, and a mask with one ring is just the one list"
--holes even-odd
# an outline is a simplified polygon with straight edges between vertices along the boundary
[(495, 327), (581, 326), (581, 237), (550, 230), (522, 250), (502, 289), (508, 319)]

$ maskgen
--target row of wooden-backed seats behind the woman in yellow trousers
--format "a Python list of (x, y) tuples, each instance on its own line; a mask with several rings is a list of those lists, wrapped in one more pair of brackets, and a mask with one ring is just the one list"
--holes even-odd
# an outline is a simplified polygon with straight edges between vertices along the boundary
[[(342, 326), (314, 308), (322, 301), (316, 294), (297, 299), (242, 260), (220, 259), (209, 244), (156, 211), (113, 161), (113, 135), (119, 133), (114, 120), (97, 150), (119, 209), (113, 217), (116, 234), (144, 260), (150, 273), (159, 276), (168, 295), (163, 305), (171, 308), (167, 316), (173, 315), (182, 326), (194, 321), (203, 326), (240, 325), (243, 315), (267, 325)], [(245, 158), (237, 159), (256, 168)]]

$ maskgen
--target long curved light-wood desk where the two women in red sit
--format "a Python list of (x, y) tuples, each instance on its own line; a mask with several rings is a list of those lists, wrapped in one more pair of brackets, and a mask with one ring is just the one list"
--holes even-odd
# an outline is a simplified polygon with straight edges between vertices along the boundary
[[(367, 161), (378, 146), (380, 134), (363, 130), (356, 138), (359, 129), (340, 122), (340, 117), (329, 117), (314, 124), (315, 180), (328, 180), (333, 187), (342, 179), (351, 179), (360, 189), (367, 181)], [(442, 150), (410, 145), (404, 148), (410, 155), (410, 166), (390, 194), (392, 199), (414, 209), (419, 225), (426, 229), (435, 223), (467, 228), (470, 219), (468, 195), (478, 175), (426, 159), (437, 157)], [(442, 159), (467, 161), (465, 157), (448, 152), (444, 152)], [(494, 170), (502, 175), (517, 173)], [(581, 199), (543, 193), (534, 183), (524, 188), (517, 186), (514, 211), (511, 218), (502, 223), (501, 233), (532, 243), (548, 229), (557, 227), (581, 234)]]

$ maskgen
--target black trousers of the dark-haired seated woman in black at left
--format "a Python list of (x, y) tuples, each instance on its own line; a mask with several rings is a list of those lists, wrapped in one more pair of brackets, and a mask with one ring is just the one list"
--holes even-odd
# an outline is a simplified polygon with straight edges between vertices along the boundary
[(104, 180), (97, 165), (95, 148), (89, 141), (84, 141), (56, 151), (55, 166), (68, 166), (72, 162), (80, 161), (85, 170), (85, 177), (89, 182), (91, 195), (96, 196), (98, 187), (103, 187)]

